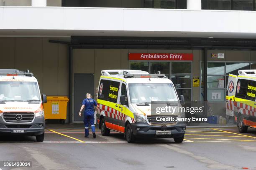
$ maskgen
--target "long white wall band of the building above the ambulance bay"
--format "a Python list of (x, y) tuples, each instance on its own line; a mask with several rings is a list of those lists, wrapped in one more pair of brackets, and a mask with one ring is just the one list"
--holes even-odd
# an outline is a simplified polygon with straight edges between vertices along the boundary
[(256, 33), (256, 11), (0, 7), (0, 30)]

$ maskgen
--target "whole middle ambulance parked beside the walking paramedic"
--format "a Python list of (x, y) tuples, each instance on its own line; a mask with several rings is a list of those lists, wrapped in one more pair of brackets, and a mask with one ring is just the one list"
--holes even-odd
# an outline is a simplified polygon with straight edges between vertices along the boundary
[[(176, 117), (184, 117), (184, 112), (161, 116), (164, 120), (151, 114), (151, 105), (156, 101), (181, 106), (171, 80), (160, 72), (141, 70), (102, 70), (101, 74), (96, 115), (103, 136), (115, 130), (123, 133), (128, 143), (139, 137), (174, 138), (175, 143), (182, 143), (186, 124)], [(181, 100), (184, 102), (184, 96)]]

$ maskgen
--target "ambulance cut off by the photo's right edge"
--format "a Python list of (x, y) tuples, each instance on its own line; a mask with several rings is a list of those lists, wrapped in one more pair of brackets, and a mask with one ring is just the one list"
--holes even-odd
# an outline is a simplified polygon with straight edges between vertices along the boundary
[(229, 74), (226, 90), (226, 115), (235, 120), (240, 133), (256, 128), (256, 70)]

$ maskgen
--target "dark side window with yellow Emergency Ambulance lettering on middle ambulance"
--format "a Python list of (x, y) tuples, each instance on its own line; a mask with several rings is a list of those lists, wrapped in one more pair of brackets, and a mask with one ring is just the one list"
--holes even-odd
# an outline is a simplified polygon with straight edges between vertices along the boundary
[(98, 99), (117, 102), (120, 82), (100, 80)]

